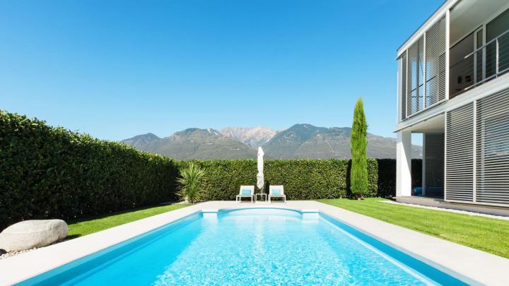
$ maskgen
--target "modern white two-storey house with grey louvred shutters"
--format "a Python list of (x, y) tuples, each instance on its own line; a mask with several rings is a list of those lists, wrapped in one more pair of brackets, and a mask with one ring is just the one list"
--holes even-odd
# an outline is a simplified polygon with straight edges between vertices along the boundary
[(447, 0), (397, 49), (397, 197), (509, 207), (509, 1)]

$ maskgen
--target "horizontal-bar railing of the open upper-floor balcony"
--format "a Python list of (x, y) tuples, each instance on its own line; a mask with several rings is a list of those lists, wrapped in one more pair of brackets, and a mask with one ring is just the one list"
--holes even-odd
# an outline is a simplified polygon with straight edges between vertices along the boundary
[(450, 98), (509, 71), (509, 30), (450, 67)]

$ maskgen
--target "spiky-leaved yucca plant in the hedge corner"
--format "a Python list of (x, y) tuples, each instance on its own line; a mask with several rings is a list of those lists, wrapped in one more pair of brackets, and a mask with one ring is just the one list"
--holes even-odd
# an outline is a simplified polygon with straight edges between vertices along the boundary
[(177, 195), (182, 201), (196, 203), (200, 199), (201, 180), (205, 175), (204, 170), (194, 163), (180, 170), (180, 178), (177, 179), (179, 191)]

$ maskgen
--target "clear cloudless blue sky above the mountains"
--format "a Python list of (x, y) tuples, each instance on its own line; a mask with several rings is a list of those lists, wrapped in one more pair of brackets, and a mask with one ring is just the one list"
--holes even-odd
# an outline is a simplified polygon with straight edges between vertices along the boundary
[(121, 140), (189, 127), (392, 136), (396, 49), (443, 0), (1, 1), (0, 109)]

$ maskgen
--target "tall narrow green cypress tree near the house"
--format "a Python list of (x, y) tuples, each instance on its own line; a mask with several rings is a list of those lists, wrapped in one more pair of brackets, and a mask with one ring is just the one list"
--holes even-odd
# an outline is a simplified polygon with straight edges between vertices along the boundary
[(366, 133), (368, 124), (365, 121), (364, 105), (359, 97), (353, 110), (353, 124), (350, 137), (351, 172), (350, 189), (353, 196), (360, 199), (368, 191), (368, 160), (366, 158)]

